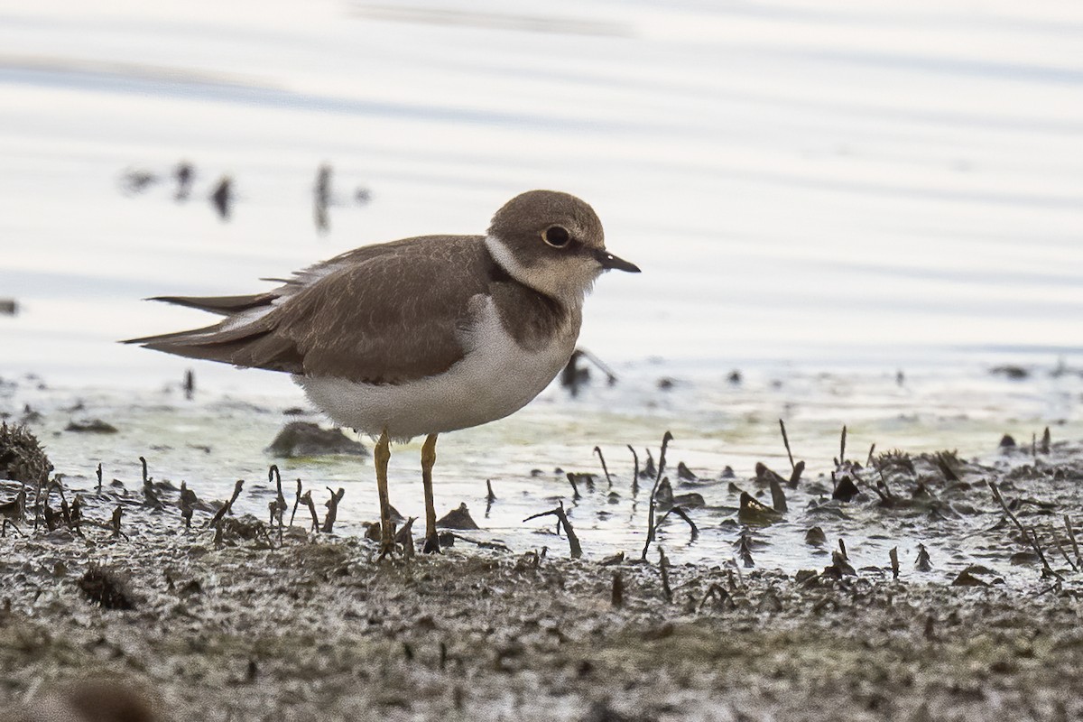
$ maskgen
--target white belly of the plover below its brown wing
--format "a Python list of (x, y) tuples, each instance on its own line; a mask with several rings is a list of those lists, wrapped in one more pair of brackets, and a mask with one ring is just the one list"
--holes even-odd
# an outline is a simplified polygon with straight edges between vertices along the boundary
[(330, 377), (293, 379), (336, 423), (394, 439), (468, 429), (518, 411), (567, 364), (575, 328), (535, 351), (505, 332), (486, 309), (470, 333), (470, 351), (443, 373), (401, 384), (369, 384)]

